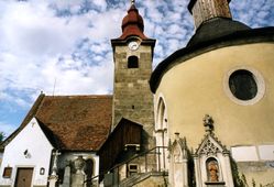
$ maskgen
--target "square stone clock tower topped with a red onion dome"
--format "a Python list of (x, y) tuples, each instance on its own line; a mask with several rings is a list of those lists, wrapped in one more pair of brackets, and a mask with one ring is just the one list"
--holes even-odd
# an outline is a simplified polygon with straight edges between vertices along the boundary
[(143, 143), (151, 148), (154, 146), (154, 108), (149, 79), (155, 40), (146, 37), (143, 31), (143, 19), (132, 0), (122, 21), (122, 35), (111, 40), (114, 61), (112, 129), (122, 118), (142, 124)]

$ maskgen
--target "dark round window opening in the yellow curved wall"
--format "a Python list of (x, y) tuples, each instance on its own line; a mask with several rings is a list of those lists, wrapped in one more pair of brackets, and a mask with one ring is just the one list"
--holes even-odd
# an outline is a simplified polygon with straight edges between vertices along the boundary
[(251, 100), (257, 94), (257, 85), (251, 72), (240, 69), (229, 77), (229, 88), (234, 97), (240, 100)]

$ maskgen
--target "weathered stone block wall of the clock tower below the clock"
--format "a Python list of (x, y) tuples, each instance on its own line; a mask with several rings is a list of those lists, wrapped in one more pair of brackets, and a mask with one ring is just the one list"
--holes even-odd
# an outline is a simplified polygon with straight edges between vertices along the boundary
[[(128, 58), (139, 58), (138, 68), (128, 67)], [(152, 138), (154, 129), (153, 95), (150, 91), (149, 79), (152, 73), (152, 47), (141, 46), (130, 51), (128, 46), (117, 46), (114, 53), (114, 94), (113, 125), (121, 118), (143, 125), (144, 144), (146, 148), (154, 147)]]

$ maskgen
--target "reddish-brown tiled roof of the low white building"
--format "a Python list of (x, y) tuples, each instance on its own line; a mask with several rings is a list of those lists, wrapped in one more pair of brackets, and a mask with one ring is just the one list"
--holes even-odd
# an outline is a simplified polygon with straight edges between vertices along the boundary
[(97, 151), (110, 132), (112, 96), (44, 96), (34, 107), (11, 139), (33, 117), (58, 150)]

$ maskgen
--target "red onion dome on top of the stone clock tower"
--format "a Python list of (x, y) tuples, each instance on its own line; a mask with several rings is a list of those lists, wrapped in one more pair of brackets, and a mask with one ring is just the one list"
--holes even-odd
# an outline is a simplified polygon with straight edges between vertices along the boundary
[(134, 3), (131, 4), (128, 10), (128, 14), (123, 18), (122, 21), (122, 35), (120, 40), (125, 40), (129, 36), (139, 36), (141, 38), (146, 38), (143, 33), (144, 22), (143, 18), (139, 14), (139, 11)]

